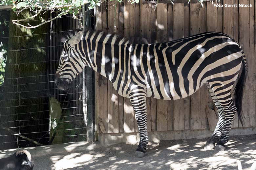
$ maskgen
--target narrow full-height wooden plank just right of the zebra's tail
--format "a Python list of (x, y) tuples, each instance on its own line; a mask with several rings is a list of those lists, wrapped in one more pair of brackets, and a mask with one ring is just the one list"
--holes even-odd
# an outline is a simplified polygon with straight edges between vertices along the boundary
[(251, 4), (252, 7), (247, 8), (250, 10), (250, 29), (249, 29), (249, 59), (247, 62), (249, 63), (248, 69), (248, 127), (255, 127), (255, 18), (254, 18), (254, 10), (255, 10), (255, 0), (247, 1), (247, 4)]

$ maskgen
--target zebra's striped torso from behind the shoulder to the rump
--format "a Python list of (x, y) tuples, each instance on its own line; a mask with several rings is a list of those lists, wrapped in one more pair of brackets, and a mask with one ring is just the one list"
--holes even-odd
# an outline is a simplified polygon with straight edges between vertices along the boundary
[(235, 74), (228, 79), (233, 81), (243, 56), (239, 44), (219, 32), (206, 32), (172, 42), (134, 44), (128, 50), (131, 81), (127, 89), (134, 81), (138, 84), (144, 79), (147, 97), (164, 100), (187, 97), (204, 83), (220, 83), (226, 81), (223, 77)]

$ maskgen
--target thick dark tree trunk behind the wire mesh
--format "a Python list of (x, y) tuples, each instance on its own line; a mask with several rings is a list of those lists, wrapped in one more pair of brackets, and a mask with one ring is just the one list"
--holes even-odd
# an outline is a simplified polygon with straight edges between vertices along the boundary
[[(33, 14), (28, 10), (22, 11), (18, 16), (11, 11), (10, 20), (21, 19), (29, 15)], [(43, 15), (43, 18), (48, 17), (48, 13)], [(34, 20), (39, 21), (32, 21), (31, 25), (41, 23), (39, 17)], [(24, 22), (22, 24), (27, 25)], [(47, 82), (47, 76), (40, 76), (47, 74), (47, 63), (44, 61), (47, 60), (48, 48), (40, 48), (48, 46), (49, 34), (42, 34), (47, 32), (49, 32), (49, 25), (42, 25), (36, 29), (10, 25), (0, 122), (13, 121), (3, 126), (15, 127), (11, 130), (18, 133), (48, 131), (49, 109), (46, 96), (49, 93), (46, 90), (48, 89), (47, 83), (44, 83)], [(0, 134), (10, 135), (4, 129), (0, 130)], [(37, 138), (47, 137), (45, 134), (48, 135), (47, 132), (42, 132), (24, 134), (24, 136), (38, 142)], [(28, 141), (15, 142), (20, 140), (23, 139), (18, 138), (17, 135), (0, 136), (0, 143), (4, 143), (0, 148), (35, 146)], [(43, 139), (39, 142), (47, 144)]]

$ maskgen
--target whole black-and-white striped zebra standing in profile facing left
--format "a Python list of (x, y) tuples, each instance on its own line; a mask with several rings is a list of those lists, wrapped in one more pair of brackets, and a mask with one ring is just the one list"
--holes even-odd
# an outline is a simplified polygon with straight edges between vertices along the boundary
[[(133, 44), (114, 33), (77, 30), (61, 39), (64, 43), (55, 83), (66, 90), (85, 68), (108, 78), (123, 97), (128, 97), (139, 127), (135, 157), (145, 155), (148, 144), (146, 97), (177, 100), (207, 86), (218, 110), (217, 126), (204, 149), (225, 149), (238, 113), (243, 125), (242, 96), (247, 63), (241, 46), (220, 32), (205, 32), (179, 40)], [(234, 101), (231, 89), (235, 87)], [(216, 145), (215, 145), (216, 144)]]

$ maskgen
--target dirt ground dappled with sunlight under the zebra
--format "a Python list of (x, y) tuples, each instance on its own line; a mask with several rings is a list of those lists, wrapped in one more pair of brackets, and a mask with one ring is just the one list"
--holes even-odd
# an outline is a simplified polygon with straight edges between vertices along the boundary
[[(236, 170), (237, 159), (243, 170), (256, 161), (256, 134), (232, 136), (227, 150), (205, 151), (207, 139), (187, 139), (150, 143), (145, 157), (134, 158), (136, 145), (75, 143), (27, 148), (34, 159), (34, 170)], [(16, 149), (0, 150), (0, 158)]]

